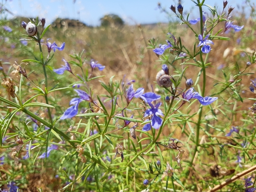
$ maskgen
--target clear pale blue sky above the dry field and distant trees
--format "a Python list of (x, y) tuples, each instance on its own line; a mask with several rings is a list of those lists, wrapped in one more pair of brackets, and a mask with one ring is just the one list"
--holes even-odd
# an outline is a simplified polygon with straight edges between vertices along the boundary
[[(5, 2), (5, 0), (2, 0)], [(237, 7), (244, 0), (228, 0), (228, 5)], [(149, 24), (168, 22), (165, 13), (158, 9), (158, 2), (171, 13), (171, 4), (177, 0), (8, 0), (5, 7), (16, 16), (45, 17), (50, 24), (57, 17), (79, 19), (85, 24), (99, 25), (99, 19), (105, 14), (114, 13), (127, 24)], [(191, 11), (191, 19), (197, 17), (197, 7), (191, 0), (183, 0), (184, 11)], [(222, 0), (205, 0), (211, 6), (223, 6)], [(236, 8), (237, 10), (237, 8)], [(205, 11), (207, 9), (205, 8)], [(172, 13), (173, 14), (173, 13)], [(9, 15), (8, 18), (11, 18)]]

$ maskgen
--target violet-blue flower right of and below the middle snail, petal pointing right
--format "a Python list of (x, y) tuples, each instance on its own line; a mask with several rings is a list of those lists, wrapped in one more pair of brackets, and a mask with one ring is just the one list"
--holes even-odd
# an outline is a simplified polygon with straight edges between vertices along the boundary
[[(190, 100), (190, 99), (197, 99), (203, 106), (207, 106), (210, 105), (212, 102), (214, 102), (215, 100), (217, 100), (217, 97), (202, 97), (201, 95), (199, 95), (198, 92), (193, 92), (193, 87), (191, 87), (189, 90), (187, 90), (187, 92), (182, 93), (182, 98), (186, 99), (186, 100)], [(183, 101), (185, 102), (185, 101)]]

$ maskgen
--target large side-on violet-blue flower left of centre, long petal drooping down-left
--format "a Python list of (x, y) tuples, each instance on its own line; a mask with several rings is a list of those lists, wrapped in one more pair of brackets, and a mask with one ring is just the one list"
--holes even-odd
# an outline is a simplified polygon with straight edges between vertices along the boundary
[(68, 108), (64, 112), (63, 116), (59, 119), (63, 120), (63, 119), (75, 117), (75, 115), (78, 114), (79, 103), (82, 102), (83, 100), (93, 102), (91, 97), (83, 90), (76, 89), (75, 91), (77, 92), (80, 98), (72, 98), (69, 105), (74, 105), (74, 106), (71, 106), (70, 108)]

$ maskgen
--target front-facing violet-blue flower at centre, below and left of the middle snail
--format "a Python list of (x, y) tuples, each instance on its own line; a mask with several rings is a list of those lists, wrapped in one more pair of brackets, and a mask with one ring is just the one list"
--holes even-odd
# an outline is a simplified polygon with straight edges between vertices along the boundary
[[(151, 103), (148, 103), (148, 104), (151, 108), (146, 110), (144, 117), (153, 115), (150, 124), (154, 129), (159, 129), (163, 120), (160, 117), (158, 117), (158, 115), (164, 116), (164, 114), (161, 112), (161, 110), (158, 109), (159, 106), (161, 106), (161, 103), (157, 103), (156, 106), (153, 106), (153, 104), (151, 104)], [(142, 131), (149, 131), (151, 129), (150, 124), (146, 124), (143, 127)]]

